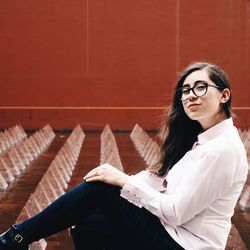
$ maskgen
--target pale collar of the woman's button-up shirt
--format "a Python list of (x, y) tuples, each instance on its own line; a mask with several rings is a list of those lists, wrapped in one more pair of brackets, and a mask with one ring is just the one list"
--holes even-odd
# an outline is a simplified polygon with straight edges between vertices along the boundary
[(229, 128), (233, 128), (233, 119), (228, 118), (213, 127), (207, 129), (203, 133), (198, 135), (198, 143), (199, 144), (204, 144), (207, 141), (217, 137), (218, 135), (222, 134), (225, 130)]

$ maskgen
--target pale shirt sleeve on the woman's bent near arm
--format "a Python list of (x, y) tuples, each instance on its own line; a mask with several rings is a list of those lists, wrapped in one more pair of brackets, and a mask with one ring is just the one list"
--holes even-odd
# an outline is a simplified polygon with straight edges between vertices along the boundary
[(237, 157), (233, 155), (222, 150), (194, 160), (191, 170), (186, 170), (178, 188), (171, 194), (159, 192), (143, 179), (131, 176), (121, 196), (146, 208), (167, 224), (182, 225), (229, 190), (237, 166)]

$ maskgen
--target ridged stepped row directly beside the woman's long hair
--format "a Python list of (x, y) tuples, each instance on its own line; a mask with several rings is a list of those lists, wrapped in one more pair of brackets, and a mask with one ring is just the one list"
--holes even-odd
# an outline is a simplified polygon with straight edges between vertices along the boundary
[(130, 138), (148, 167), (157, 162), (160, 147), (138, 124), (134, 126)]

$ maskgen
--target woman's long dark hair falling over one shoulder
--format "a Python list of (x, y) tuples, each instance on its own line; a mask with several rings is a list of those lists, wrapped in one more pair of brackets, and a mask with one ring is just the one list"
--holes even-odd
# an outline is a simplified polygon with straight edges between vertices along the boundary
[[(164, 176), (177, 163), (187, 151), (189, 151), (198, 134), (202, 131), (199, 122), (191, 120), (183, 109), (182, 102), (178, 97), (180, 89), (186, 77), (197, 70), (206, 70), (211, 81), (219, 90), (230, 89), (230, 83), (226, 73), (216, 65), (207, 62), (196, 62), (189, 65), (180, 74), (173, 95), (173, 101), (169, 107), (167, 119), (161, 128), (161, 134), (165, 135), (162, 141), (159, 161), (149, 170), (158, 175)], [(221, 111), (229, 118), (232, 116), (231, 95), (226, 103), (221, 104)]]

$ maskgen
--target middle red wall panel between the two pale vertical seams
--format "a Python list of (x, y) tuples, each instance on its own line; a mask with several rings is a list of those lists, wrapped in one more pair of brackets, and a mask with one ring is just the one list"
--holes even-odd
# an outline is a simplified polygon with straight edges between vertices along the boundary
[[(175, 75), (175, 1), (92, 1), (91, 106), (156, 106)], [(169, 34), (169, 35), (168, 35)]]

